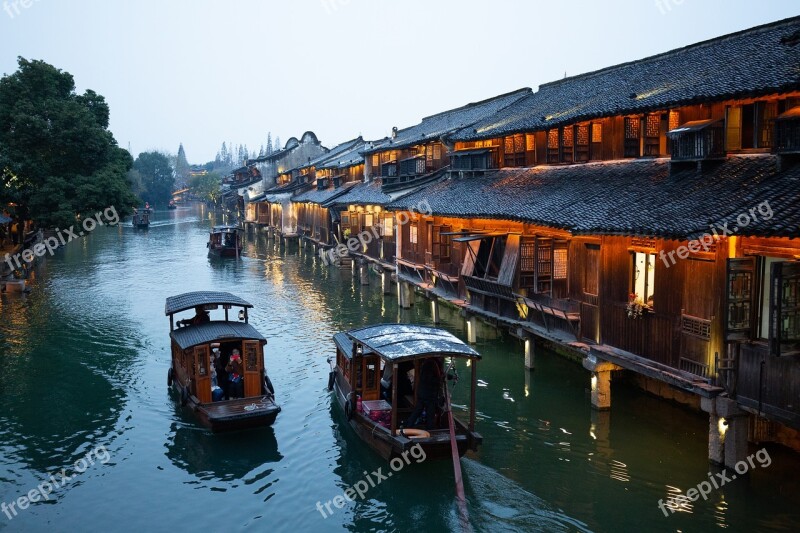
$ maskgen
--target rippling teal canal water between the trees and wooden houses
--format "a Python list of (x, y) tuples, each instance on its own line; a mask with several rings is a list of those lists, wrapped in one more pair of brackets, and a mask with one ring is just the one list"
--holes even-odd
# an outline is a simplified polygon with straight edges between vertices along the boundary
[[(156, 212), (145, 232), (99, 228), (42, 262), (30, 294), (0, 296), (0, 530), (458, 530), (449, 461), (412, 462), (324, 510), (387, 470), (341, 426), (326, 390), (331, 335), (430, 324), (429, 306), (399, 310), (378, 277), (362, 287), (264, 236), (249, 236), (239, 261), (209, 259), (213, 222), (196, 206)], [(168, 392), (164, 300), (208, 289), (256, 305), (283, 407), (272, 428), (212, 435)], [(463, 337), (457, 315), (443, 320)], [(484, 444), (462, 460), (475, 531), (797, 530), (795, 456), (769, 448), (769, 466), (756, 461), (707, 500), (676, 503), (716, 472), (707, 418), (619, 386), (613, 410), (596, 413), (579, 365), (540, 352), (528, 373), (514, 339), (477, 348)], [(467, 394), (463, 380), (456, 410)], [(9, 508), (31, 491), (39, 501)]]

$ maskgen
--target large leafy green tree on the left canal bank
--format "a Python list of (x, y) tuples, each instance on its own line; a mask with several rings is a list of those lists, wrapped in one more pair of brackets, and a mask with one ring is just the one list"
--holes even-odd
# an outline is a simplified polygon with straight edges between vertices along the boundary
[(115, 207), (129, 214), (136, 198), (126, 174), (132, 160), (108, 130), (109, 108), (92, 90), (75, 93), (71, 74), (18, 58), (0, 79), (0, 203), (41, 227)]

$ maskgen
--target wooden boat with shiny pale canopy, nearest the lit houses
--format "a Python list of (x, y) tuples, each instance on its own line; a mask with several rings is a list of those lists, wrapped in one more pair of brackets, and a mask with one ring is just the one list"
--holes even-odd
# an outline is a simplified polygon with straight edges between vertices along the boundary
[[(467, 449), (477, 450), (483, 439), (475, 432), (476, 367), (481, 358), (475, 350), (447, 331), (408, 324), (368, 326), (337, 333), (333, 340), (336, 364), (328, 387), (334, 390), (350, 427), (386, 459), (402, 455), (417, 444), (425, 450), (427, 458), (451, 457), (448, 421), (441, 403), (434, 414), (433, 429), (401, 426), (416, 405), (420, 371), (426, 361), (433, 360), (442, 371), (441, 377), (450, 379), (453, 371), (444, 366), (445, 358), (467, 359), (472, 374), (469, 421), (464, 424), (453, 417), (455, 441), (459, 456)], [(391, 372), (388, 391), (387, 368)], [(402, 380), (412, 369), (414, 383), (406, 388)], [(446, 380), (442, 382), (446, 386)]]

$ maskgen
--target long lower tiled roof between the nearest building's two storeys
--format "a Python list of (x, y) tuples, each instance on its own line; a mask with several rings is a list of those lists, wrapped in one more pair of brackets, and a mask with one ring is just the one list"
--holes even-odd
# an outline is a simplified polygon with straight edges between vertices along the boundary
[[(517, 220), (574, 234), (685, 239), (728, 222), (737, 235), (800, 236), (800, 165), (778, 172), (775, 156), (742, 155), (703, 172), (683, 168), (670, 174), (669, 160), (641, 159), (503, 169), (446, 179), (387, 207), (430, 206), (434, 215)], [(763, 202), (773, 216), (739, 228), (737, 216), (751, 208), (758, 214)]]

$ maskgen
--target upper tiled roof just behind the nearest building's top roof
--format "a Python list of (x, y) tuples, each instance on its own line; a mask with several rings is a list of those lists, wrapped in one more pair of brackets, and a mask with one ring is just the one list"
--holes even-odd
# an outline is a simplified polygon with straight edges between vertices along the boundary
[(364, 154), (372, 154), (384, 150), (397, 150), (439, 139), (447, 133), (493, 116), (501, 109), (530, 93), (531, 90), (529, 88), (518, 89), (488, 100), (467, 104), (425, 117), (416, 126), (398, 130), (396, 138), (376, 143), (372, 148), (365, 150)]

